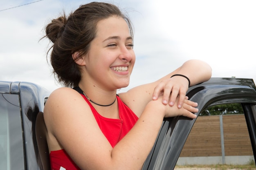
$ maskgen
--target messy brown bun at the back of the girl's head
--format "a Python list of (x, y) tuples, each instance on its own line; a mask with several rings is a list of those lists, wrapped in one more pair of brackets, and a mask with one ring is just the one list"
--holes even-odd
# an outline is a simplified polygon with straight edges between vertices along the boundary
[(65, 14), (57, 19), (53, 19), (51, 23), (46, 26), (46, 36), (54, 43), (63, 33), (67, 18)]

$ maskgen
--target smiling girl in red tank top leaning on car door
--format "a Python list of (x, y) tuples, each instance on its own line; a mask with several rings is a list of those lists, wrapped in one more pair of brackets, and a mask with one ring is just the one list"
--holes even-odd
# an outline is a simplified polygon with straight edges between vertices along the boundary
[(186, 91), (211, 77), (199, 60), (117, 95), (130, 82), (135, 53), (130, 20), (115, 5), (81, 5), (52, 20), (45, 36), (53, 42), (54, 73), (66, 86), (44, 109), (53, 170), (139, 170), (164, 117), (196, 117)]

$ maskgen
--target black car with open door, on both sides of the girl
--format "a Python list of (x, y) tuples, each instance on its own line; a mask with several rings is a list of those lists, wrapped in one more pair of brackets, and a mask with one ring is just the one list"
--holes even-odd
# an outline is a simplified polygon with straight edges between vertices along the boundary
[[(46, 170), (49, 157), (44, 104), (49, 91), (27, 82), (0, 82), (0, 169)], [(200, 114), (210, 106), (240, 103), (256, 159), (256, 86), (252, 79), (211, 78), (189, 88), (187, 96), (198, 102)], [(196, 119), (166, 118), (143, 170), (173, 170)], [(39, 126), (38, 126), (39, 125)], [(37, 140), (36, 140), (37, 139)]]

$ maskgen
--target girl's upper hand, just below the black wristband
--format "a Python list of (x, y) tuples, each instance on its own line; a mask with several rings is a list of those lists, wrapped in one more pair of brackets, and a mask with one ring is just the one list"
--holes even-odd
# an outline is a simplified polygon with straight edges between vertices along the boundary
[[(174, 76), (160, 82), (154, 89), (153, 100), (157, 100), (159, 96), (163, 95), (162, 103), (173, 106), (176, 98), (179, 96), (177, 107), (181, 108), (186, 98), (186, 91), (188, 90), (189, 82), (182, 76)], [(171, 97), (170, 97), (171, 96)]]

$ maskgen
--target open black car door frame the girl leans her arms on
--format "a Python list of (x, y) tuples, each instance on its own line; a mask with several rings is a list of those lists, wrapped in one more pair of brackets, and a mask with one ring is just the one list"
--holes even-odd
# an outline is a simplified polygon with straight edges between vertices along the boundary
[[(241, 103), (256, 159), (256, 87), (252, 79), (211, 78), (189, 88), (187, 96), (198, 103), (198, 113), (218, 104)], [(166, 118), (143, 170), (173, 170), (196, 119)]]

